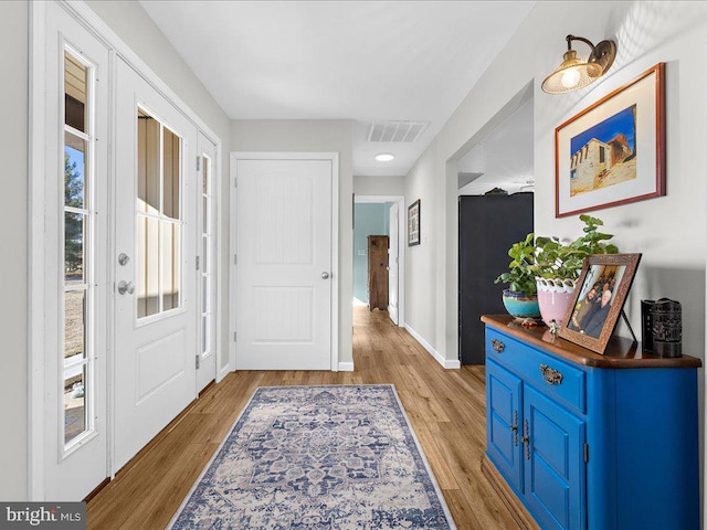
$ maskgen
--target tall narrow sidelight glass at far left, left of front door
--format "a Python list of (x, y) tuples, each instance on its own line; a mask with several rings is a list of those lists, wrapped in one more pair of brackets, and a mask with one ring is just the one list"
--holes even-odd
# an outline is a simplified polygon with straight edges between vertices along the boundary
[(63, 131), (63, 349), (64, 448), (80, 445), (93, 430), (94, 392), (94, 67), (64, 51)]

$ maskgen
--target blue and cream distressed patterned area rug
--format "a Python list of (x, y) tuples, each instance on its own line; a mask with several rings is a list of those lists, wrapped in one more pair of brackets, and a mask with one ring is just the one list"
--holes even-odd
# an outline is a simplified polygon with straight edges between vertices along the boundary
[(258, 388), (177, 529), (454, 529), (392, 385)]

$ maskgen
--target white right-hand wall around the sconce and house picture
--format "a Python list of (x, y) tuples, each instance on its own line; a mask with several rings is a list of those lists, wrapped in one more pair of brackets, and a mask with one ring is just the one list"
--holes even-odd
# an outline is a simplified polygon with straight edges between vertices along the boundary
[[(561, 61), (568, 33), (594, 42), (612, 38), (618, 57), (594, 85), (563, 96), (540, 91)], [(580, 54), (587, 52), (577, 43)], [(593, 212), (623, 252), (643, 259), (626, 304), (640, 330), (640, 299), (683, 304), (684, 352), (705, 359), (707, 216), (706, 2), (555, 2), (536, 4), (498, 59), (473, 87), (405, 182), (422, 199), (422, 230), (434, 241), (408, 248), (408, 321), (447, 360), (457, 358), (456, 162), (463, 146), (532, 82), (535, 100), (535, 227), (574, 237), (577, 218), (555, 219), (555, 128), (658, 62), (667, 63), (667, 195)], [(430, 206), (435, 208), (430, 215)], [(424, 215), (424, 213), (423, 213)], [(434, 253), (439, 255), (435, 259)], [(625, 335), (625, 330), (621, 331)], [(640, 332), (640, 331), (639, 331)], [(700, 416), (704, 385), (700, 370)], [(700, 417), (701, 421), (701, 417)], [(700, 433), (703, 426), (700, 425)], [(700, 435), (704, 444), (704, 435)]]

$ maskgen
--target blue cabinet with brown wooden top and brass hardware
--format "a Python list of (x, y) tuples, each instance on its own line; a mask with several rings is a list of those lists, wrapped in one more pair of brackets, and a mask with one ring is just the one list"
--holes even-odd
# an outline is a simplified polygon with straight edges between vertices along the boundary
[(482, 320), (486, 456), (541, 528), (699, 528), (699, 359)]

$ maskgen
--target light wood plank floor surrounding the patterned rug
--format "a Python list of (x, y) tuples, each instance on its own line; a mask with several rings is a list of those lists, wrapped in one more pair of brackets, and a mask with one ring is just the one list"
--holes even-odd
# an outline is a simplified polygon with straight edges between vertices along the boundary
[(392, 383), (460, 530), (518, 526), (481, 471), (484, 368), (444, 370), (387, 312), (354, 308), (354, 372), (240, 371), (211, 385), (87, 506), (89, 529), (162, 529), (257, 386)]

